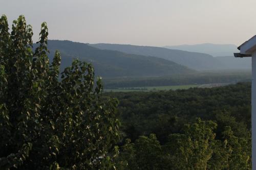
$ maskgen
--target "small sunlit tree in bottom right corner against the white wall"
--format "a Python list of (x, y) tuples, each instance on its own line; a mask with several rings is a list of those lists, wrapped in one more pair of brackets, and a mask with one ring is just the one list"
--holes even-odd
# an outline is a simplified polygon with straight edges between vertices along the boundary
[(233, 135), (230, 127), (222, 132), (223, 141), (215, 140), (208, 169), (251, 169), (251, 138)]

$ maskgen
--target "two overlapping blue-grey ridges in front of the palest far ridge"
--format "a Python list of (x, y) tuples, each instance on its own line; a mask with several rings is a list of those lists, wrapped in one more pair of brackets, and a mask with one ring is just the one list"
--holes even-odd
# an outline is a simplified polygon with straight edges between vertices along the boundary
[[(36, 45), (34, 45), (36, 46)], [(92, 63), (95, 74), (104, 78), (159, 77), (195, 74), (201, 70), (250, 69), (250, 58), (212, 57), (209, 54), (164, 47), (124, 44), (87, 44), (48, 40), (50, 59), (61, 53), (61, 70), (74, 59)]]

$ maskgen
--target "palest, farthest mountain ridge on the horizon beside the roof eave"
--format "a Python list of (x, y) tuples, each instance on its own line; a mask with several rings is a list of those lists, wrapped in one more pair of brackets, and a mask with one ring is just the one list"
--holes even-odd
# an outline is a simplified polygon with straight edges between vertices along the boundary
[(173, 50), (184, 50), (188, 52), (197, 52), (205, 53), (216, 56), (232, 56), (233, 53), (238, 53), (236, 45), (233, 44), (195, 44), (195, 45), (173, 45), (173, 46), (164, 46), (165, 48)]

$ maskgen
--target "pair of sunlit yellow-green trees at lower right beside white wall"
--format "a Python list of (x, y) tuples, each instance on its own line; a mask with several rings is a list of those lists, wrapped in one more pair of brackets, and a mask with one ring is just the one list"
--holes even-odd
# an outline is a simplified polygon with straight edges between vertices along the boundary
[(223, 139), (216, 139), (217, 124), (202, 121), (184, 126), (184, 134), (169, 135), (163, 150), (168, 169), (251, 169), (250, 139), (236, 137), (226, 126)]

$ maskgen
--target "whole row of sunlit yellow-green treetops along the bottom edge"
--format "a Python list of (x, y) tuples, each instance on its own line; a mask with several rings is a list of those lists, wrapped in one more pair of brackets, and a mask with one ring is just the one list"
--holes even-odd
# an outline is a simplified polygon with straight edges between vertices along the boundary
[(251, 169), (250, 139), (236, 137), (226, 127), (216, 139), (217, 124), (202, 121), (184, 125), (183, 134), (169, 135), (160, 145), (154, 134), (126, 139), (121, 147), (119, 169)]

